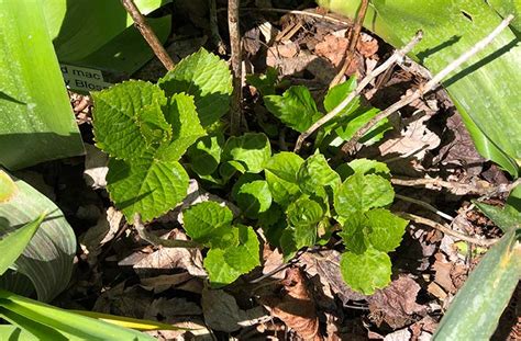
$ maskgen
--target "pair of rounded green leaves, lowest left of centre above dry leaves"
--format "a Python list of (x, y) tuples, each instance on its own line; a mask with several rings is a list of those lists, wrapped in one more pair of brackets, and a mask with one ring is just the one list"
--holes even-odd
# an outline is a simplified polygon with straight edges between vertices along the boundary
[(233, 225), (230, 208), (202, 202), (184, 211), (182, 216), (187, 235), (210, 248), (204, 268), (212, 286), (228, 285), (260, 264), (257, 235), (250, 226)]

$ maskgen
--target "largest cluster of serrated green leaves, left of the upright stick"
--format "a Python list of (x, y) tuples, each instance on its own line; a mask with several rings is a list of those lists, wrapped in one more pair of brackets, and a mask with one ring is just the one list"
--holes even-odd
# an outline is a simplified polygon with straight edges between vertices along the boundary
[(200, 49), (157, 84), (131, 80), (92, 93), (97, 146), (110, 156), (108, 190), (128, 219), (152, 220), (185, 198), (179, 159), (228, 111), (231, 92), (226, 64)]

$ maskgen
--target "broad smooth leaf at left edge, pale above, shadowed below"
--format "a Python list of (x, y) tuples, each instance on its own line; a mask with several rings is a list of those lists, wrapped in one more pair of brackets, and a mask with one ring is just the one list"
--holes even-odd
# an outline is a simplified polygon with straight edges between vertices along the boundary
[[(76, 254), (76, 236), (59, 208), (25, 182), (14, 179), (18, 193), (7, 203), (0, 203), (0, 236), (16, 228), (37, 221), (47, 213), (31, 242), (2, 276), (4, 288), (31, 294), (27, 281), (31, 280), (38, 299), (51, 300), (68, 284), (73, 273)], [(34, 225), (32, 225), (34, 227)], [(4, 248), (1, 248), (5, 253)], [(11, 273), (11, 274), (10, 274)], [(22, 280), (21, 280), (22, 279)]]

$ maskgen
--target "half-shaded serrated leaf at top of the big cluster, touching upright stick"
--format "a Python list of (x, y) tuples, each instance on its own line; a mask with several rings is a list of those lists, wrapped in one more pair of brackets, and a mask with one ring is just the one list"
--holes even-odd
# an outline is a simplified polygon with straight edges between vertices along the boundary
[(193, 95), (204, 127), (228, 112), (233, 89), (226, 62), (203, 48), (179, 61), (158, 86), (168, 96), (179, 92)]

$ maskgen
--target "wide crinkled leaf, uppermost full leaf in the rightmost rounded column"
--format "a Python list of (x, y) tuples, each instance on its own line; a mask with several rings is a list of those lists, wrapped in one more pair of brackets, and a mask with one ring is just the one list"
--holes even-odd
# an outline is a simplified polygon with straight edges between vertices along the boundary
[(392, 203), (395, 191), (390, 182), (380, 175), (355, 173), (347, 178), (334, 196), (334, 208), (341, 216), (348, 217), (374, 207)]

